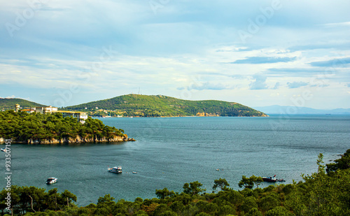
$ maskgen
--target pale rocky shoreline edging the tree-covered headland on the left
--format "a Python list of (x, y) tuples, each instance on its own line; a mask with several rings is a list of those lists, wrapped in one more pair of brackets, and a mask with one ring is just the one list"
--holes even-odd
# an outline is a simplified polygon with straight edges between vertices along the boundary
[[(23, 143), (23, 144), (74, 144), (74, 143), (118, 143), (118, 142), (127, 142), (135, 141), (134, 138), (128, 138), (125, 136), (114, 136), (113, 138), (83, 138), (81, 136), (76, 136), (76, 138), (62, 138), (62, 139), (29, 139), (26, 141), (18, 141), (18, 139), (13, 138), (13, 143)], [(5, 138), (0, 138), (0, 143), (5, 143)]]

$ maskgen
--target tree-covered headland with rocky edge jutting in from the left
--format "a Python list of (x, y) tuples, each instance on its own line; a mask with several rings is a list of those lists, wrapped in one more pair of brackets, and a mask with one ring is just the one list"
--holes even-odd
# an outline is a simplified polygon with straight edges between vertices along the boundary
[(13, 143), (106, 143), (135, 141), (128, 138), (123, 129), (104, 125), (101, 120), (88, 117), (81, 124), (62, 113), (0, 112), (0, 143), (12, 139)]

